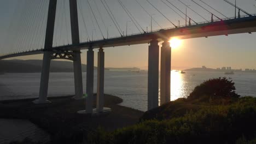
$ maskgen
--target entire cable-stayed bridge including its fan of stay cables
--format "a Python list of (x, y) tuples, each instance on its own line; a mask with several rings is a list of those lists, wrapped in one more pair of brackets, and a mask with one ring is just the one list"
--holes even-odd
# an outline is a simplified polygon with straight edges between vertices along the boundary
[[(150, 30), (141, 24), (142, 22), (136, 18), (136, 13), (133, 13), (124, 1), (117, 0), (115, 2), (127, 16), (123, 18), (124, 20), (121, 20), (126, 22), (126, 33), (118, 21), (116, 16), (118, 14), (113, 13), (114, 10), (110, 7), (110, 2), (106, 0), (22, 0), (22, 3), (18, 4), (14, 15), (19, 16), (14, 17), (9, 25), (9, 33), (6, 35), (7, 40), (1, 45), (0, 59), (43, 53), (39, 99), (34, 101), (35, 103), (48, 103), (47, 92), (51, 59), (68, 59), (74, 62), (75, 98), (83, 97), (80, 50), (88, 49), (86, 73), (86, 93), (88, 97), (86, 98), (85, 112), (109, 111), (109, 109), (103, 107), (103, 48), (150, 44), (148, 49), (148, 109), (153, 109), (158, 106), (159, 42), (163, 41), (160, 58), (160, 102), (164, 104), (170, 101), (171, 47), (169, 40), (171, 37), (179, 39), (207, 38), (238, 33), (251, 34), (256, 31), (256, 15), (248, 13), (238, 7), (236, 3), (228, 0), (219, 2), (227, 4), (227, 7), (234, 8), (235, 15), (232, 17), (215, 8), (210, 2), (203, 0), (191, 0), (190, 3), (182, 0), (175, 2), (170, 0), (159, 0), (158, 2), (150, 0), (132, 1), (144, 12), (144, 14), (141, 14), (142, 16), (147, 15), (150, 18)], [(173, 19), (165, 14), (164, 10), (158, 8), (159, 3), (165, 5), (165, 10), (170, 10), (173, 15), (184, 20), (184, 25), (181, 26), (179, 20), (178, 25), (174, 24)], [(181, 6), (183, 9), (185, 8), (185, 11)], [(187, 13), (188, 9), (189, 13)], [(206, 14), (200, 13), (199, 9), (205, 11)], [(162, 23), (153, 17), (154, 14), (151, 10), (158, 13), (162, 19), (166, 20), (167, 26), (171, 27), (164, 28), (164, 26), (161, 26)], [(108, 16), (108, 21), (104, 19), (103, 11), (104, 15)], [(193, 17), (191, 13), (194, 13)], [(194, 18), (195, 16), (205, 22), (199, 22), (198, 18)], [(112, 31), (109, 31), (110, 26), (107, 22), (112, 23)], [(132, 26), (138, 33), (127, 34), (128, 22), (133, 24)], [(159, 29), (153, 30), (152, 22)], [(115, 34), (119, 36), (113, 37), (112, 35), (112, 37), (109, 37), (109, 33), (114, 30)], [(102, 39), (98, 38), (99, 35)], [(95, 37), (98, 39), (95, 40)], [(97, 70), (97, 108), (93, 110), (94, 49), (96, 48), (100, 49), (98, 51)]]

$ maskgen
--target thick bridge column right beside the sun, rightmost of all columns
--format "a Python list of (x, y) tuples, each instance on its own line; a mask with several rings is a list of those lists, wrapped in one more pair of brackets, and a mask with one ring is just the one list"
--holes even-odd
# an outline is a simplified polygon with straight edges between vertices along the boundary
[(171, 46), (168, 40), (161, 47), (160, 105), (171, 100)]

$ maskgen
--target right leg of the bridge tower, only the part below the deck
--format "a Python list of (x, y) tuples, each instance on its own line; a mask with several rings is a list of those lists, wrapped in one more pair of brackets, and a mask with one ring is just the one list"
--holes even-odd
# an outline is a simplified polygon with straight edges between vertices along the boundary
[(80, 51), (74, 52), (74, 86), (75, 86), (75, 99), (83, 98), (83, 77), (82, 77), (82, 63)]

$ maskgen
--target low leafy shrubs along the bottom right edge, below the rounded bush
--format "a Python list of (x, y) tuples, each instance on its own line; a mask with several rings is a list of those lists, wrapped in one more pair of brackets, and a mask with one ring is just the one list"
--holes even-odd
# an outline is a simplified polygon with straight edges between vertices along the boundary
[(105, 134), (101, 131), (95, 133), (100, 134), (100, 138), (91, 136), (95, 138), (90, 142), (243, 143), (254, 139), (255, 121), (256, 98), (246, 97), (230, 105), (202, 106), (182, 117), (152, 119)]

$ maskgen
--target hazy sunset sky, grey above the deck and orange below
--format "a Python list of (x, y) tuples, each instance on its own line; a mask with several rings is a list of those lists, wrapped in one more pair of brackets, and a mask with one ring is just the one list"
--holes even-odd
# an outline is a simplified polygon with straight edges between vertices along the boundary
[[(20, 1), (27, 1), (27, 0), (20, 0)], [(35, 0), (38, 1), (38, 0)], [(62, 2), (61, 2), (62, 1)], [(54, 41), (54, 45), (62, 45), (70, 43), (70, 34), (66, 34), (63, 29), (68, 29), (69, 24), (66, 23), (63, 17), (63, 12), (66, 13), (68, 17), (69, 11), (63, 11), (64, 8), (64, 1), (66, 2), (66, 8), (68, 7), (67, 0), (59, 0), (57, 9), (59, 10), (59, 14), (57, 11), (56, 15), (56, 25), (62, 29), (56, 30), (55, 37), (60, 33), (62, 36), (59, 40)], [(82, 41), (86, 41), (89, 37), (91, 39), (92, 33), (94, 35), (94, 39), (102, 39), (101, 33), (97, 28), (96, 21), (93, 18), (93, 15), (90, 12), (90, 8), (87, 6), (86, 0), (78, 0), (79, 5), (82, 7), (82, 13), (86, 22), (86, 26), (88, 29), (88, 33), (86, 33), (86, 29), (83, 23), (83, 16), (80, 14), (79, 11), (79, 28), (80, 28), (80, 37)], [(161, 14), (158, 13), (153, 7), (151, 7), (146, 0), (138, 0), (144, 8), (148, 10), (150, 14), (153, 15), (155, 20), (164, 27), (172, 27), (171, 23), (168, 22)], [(181, 25), (184, 25), (184, 20), (179, 17), (176, 13), (174, 13), (170, 8), (168, 8), (165, 4), (161, 2), (161, 0), (149, 0), (152, 2), (155, 7), (164, 13), (168, 19), (170, 19), (173, 23), (178, 25), (178, 20), (181, 21)], [(175, 4), (180, 10), (185, 13), (185, 7), (178, 0), (168, 0)], [(211, 14), (207, 11), (198, 7), (198, 5), (193, 4), (190, 0), (182, 0), (184, 3), (190, 5), (190, 8), (193, 8), (198, 13), (202, 14), (207, 20), (211, 20)], [(195, 0), (199, 2), (198, 0)], [(10, 25), (11, 19), (13, 19), (14, 9), (17, 7), (18, 0), (9, 0), (0, 2), (0, 39), (2, 43), (4, 43), (5, 33)], [(38, 1), (40, 2), (40, 1)], [(103, 35), (107, 35), (107, 29), (109, 33), (109, 37), (119, 36), (117, 29), (115, 28), (112, 20), (108, 16), (106, 10), (104, 9), (103, 5), (101, 4), (100, 0), (95, 0), (94, 3), (92, 0), (89, 0), (92, 9), (94, 9), (94, 13), (96, 15), (97, 21), (100, 23), (101, 30)], [(106, 0), (109, 4), (110, 9), (112, 9), (113, 15), (117, 19), (120, 28), (126, 33), (126, 22), (131, 21), (124, 10), (120, 7), (117, 0)], [(122, 1), (127, 9), (130, 10), (131, 14), (135, 16), (135, 19), (138, 23), (142, 26), (142, 28), (146, 31), (146, 27), (150, 29), (150, 16), (147, 15), (141, 9), (141, 7), (137, 4), (135, 0), (129, 1)], [(222, 0), (212, 1), (212, 0), (205, 0), (208, 4), (211, 4), (212, 7), (216, 8), (217, 10), (221, 11), (224, 15), (231, 17), (234, 16), (235, 9), (230, 7), (229, 4), (226, 4)], [(234, 2), (234, 0), (230, 0), (230, 2)], [(15, 5), (16, 4), (16, 5)], [(96, 5), (97, 4), (97, 5)], [(254, 0), (237, 0), (238, 7), (245, 9), (249, 13), (253, 14), (256, 13), (256, 1)], [(100, 11), (98, 13), (97, 7)], [(171, 6), (171, 5), (170, 5)], [(204, 5), (206, 7), (206, 5)], [(210, 9), (210, 8), (208, 8)], [(210, 9), (214, 14), (218, 15), (219, 17), (223, 17), (222, 15), (218, 14), (216, 11)], [(177, 12), (185, 17), (182, 13), (178, 10)], [(91, 14), (91, 15), (89, 15)], [(201, 19), (200, 16), (193, 13), (191, 10), (188, 9), (188, 15), (192, 17), (195, 21), (201, 22), (205, 21)], [(241, 12), (241, 15), (244, 15)], [(15, 17), (15, 16), (14, 16)], [(103, 17), (103, 22), (101, 21), (101, 17)], [(67, 21), (69, 19), (67, 18)], [(61, 24), (62, 23), (62, 24)], [(64, 23), (64, 24), (63, 24)], [(138, 33), (139, 31), (133, 25), (132, 22), (128, 23), (128, 34), (131, 33)], [(94, 27), (95, 26), (95, 27)], [(153, 22), (153, 29), (159, 29), (156, 23)], [(95, 31), (95, 30), (96, 31)], [(43, 33), (43, 32), (42, 32)], [(229, 35), (228, 37), (220, 35), (217, 37), (208, 37), (208, 38), (195, 38), (195, 39), (187, 39), (182, 40), (182, 45), (178, 49), (172, 50), (172, 67), (178, 68), (191, 68), (191, 67), (201, 67), (202, 65), (206, 65), (206, 67), (216, 68), (216, 67), (232, 67), (232, 68), (252, 68), (256, 69), (256, 47), (255, 47), (255, 39), (256, 33), (252, 34), (235, 34)], [(68, 42), (69, 41), (69, 42)], [(161, 44), (160, 44), (161, 45)], [(3, 49), (3, 44), (0, 45), (0, 49)], [(5, 49), (5, 48), (4, 48)], [(95, 50), (95, 65), (97, 64), (97, 49)], [(148, 65), (148, 44), (143, 45), (132, 45), (132, 46), (121, 46), (121, 47), (108, 47), (104, 49), (105, 51), (105, 65), (106, 67), (139, 67), (146, 69)], [(86, 63), (86, 51), (82, 51), (82, 63)], [(25, 57), (15, 57), (10, 59), (42, 59), (42, 55), (34, 55), (34, 56), (25, 56)]]

